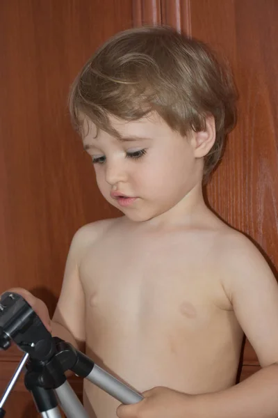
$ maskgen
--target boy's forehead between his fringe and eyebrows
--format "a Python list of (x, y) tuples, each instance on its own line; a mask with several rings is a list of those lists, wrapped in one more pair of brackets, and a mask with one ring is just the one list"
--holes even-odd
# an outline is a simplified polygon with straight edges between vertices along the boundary
[(83, 119), (83, 144), (84, 147), (97, 144), (103, 139), (113, 141), (136, 141), (138, 139), (154, 139), (161, 135), (169, 134), (170, 127), (158, 116), (149, 114), (136, 121), (124, 121), (123, 119), (109, 116), (109, 121), (113, 130), (117, 132), (117, 137), (104, 130), (97, 130), (97, 126), (89, 118)]

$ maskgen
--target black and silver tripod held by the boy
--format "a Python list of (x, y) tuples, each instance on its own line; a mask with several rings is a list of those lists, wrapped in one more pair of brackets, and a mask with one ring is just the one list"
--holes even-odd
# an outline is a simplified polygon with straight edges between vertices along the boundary
[(5, 415), (3, 405), (24, 366), (24, 385), (43, 418), (61, 418), (58, 405), (67, 418), (89, 418), (67, 382), (67, 370), (90, 380), (121, 403), (142, 400), (141, 394), (101, 369), (70, 343), (52, 337), (21, 295), (6, 292), (0, 299), (0, 350), (8, 350), (12, 341), (25, 354), (0, 400), (0, 418)]

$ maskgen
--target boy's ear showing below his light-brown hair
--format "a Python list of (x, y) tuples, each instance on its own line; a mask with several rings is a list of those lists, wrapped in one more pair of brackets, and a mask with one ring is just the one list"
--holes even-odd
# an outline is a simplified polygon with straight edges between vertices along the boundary
[(213, 116), (206, 117), (205, 130), (192, 133), (191, 144), (195, 158), (202, 158), (209, 153), (215, 143), (215, 120)]

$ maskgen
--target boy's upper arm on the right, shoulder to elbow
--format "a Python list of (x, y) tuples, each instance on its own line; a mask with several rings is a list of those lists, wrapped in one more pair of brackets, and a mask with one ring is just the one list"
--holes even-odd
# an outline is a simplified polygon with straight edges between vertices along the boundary
[(242, 233), (222, 229), (216, 244), (222, 288), (261, 366), (278, 362), (278, 286), (261, 251)]

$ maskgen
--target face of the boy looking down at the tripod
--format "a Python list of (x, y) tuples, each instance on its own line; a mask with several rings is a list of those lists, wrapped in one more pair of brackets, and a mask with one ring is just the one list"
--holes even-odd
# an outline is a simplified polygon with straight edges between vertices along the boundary
[(121, 139), (103, 130), (95, 137), (95, 124), (87, 122), (83, 144), (99, 190), (129, 219), (142, 222), (168, 212), (202, 181), (193, 140), (173, 132), (157, 114), (130, 122), (111, 118)]

